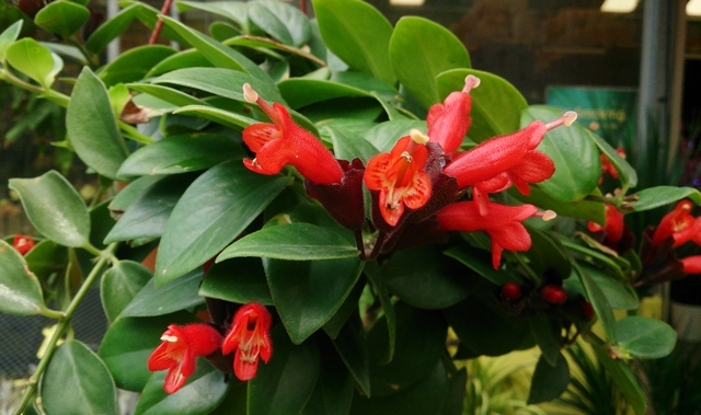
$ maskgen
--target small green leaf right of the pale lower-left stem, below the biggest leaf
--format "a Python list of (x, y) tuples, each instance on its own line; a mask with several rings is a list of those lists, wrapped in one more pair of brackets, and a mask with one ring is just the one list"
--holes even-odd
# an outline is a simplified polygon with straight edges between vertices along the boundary
[(153, 273), (134, 261), (119, 261), (100, 281), (100, 298), (111, 322), (153, 277)]

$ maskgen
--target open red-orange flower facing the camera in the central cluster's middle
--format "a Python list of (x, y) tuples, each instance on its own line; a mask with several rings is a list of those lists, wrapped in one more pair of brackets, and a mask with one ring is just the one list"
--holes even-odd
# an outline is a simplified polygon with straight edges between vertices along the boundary
[(404, 207), (418, 209), (430, 197), (430, 180), (423, 171), (426, 165), (428, 137), (417, 129), (402, 137), (389, 153), (382, 153), (368, 161), (365, 170), (365, 185), (380, 193), (379, 209), (390, 226), (395, 226)]

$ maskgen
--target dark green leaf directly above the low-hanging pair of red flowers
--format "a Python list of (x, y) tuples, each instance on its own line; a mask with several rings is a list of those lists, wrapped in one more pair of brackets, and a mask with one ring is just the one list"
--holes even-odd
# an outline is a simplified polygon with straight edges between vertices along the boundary
[(214, 264), (199, 287), (199, 296), (240, 304), (255, 301), (273, 306), (260, 258), (233, 258)]

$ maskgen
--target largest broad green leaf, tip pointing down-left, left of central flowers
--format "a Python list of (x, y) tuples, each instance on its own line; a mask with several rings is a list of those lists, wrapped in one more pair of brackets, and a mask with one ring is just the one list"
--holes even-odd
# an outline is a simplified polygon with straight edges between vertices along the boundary
[(169, 219), (156, 262), (157, 285), (216, 256), (289, 183), (248, 170), (240, 160), (209, 169), (180, 199)]

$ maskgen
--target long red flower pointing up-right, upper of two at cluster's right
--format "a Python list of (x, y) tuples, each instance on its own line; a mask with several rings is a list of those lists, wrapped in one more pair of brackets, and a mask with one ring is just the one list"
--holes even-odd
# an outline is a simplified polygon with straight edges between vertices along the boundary
[(520, 131), (492, 138), (472, 150), (458, 154), (444, 172), (458, 180), (458, 186), (473, 186), (480, 211), (486, 215), (489, 196), (484, 193), (502, 192), (516, 185), (524, 195), (530, 194), (529, 183), (540, 183), (555, 172), (550, 158), (536, 151), (545, 132), (561, 125), (571, 126), (577, 118), (568, 111), (562, 117), (544, 124), (536, 120)]

